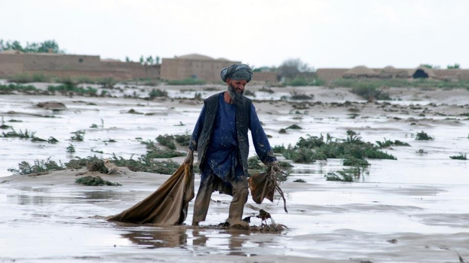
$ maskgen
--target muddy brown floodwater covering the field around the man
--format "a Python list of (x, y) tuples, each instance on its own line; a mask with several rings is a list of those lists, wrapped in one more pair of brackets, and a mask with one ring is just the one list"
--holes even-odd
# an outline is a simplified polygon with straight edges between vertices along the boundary
[[(154, 87), (117, 87), (122, 91), (109, 91), (116, 97), (0, 95), (5, 125), (59, 141), (0, 138), (1, 262), (469, 261), (469, 161), (449, 158), (469, 153), (468, 91), (390, 89), (394, 100), (366, 103), (341, 88), (272, 88), (274, 93), (269, 93), (253, 87), (255, 96), (249, 97), (272, 136), (272, 146), (295, 145), (307, 134), (345, 138), (347, 130), (372, 143), (386, 138), (410, 144), (383, 149), (397, 160), (367, 159), (371, 165), (352, 183), (324, 178), (327, 172), (344, 168), (341, 159), (292, 163), (288, 180), (281, 184), (288, 214), (277, 195), (274, 203), (261, 205), (249, 198), (244, 210), (249, 216), (265, 209), (288, 229), (257, 233), (207, 227), (228, 216), (231, 197), (218, 193), (200, 228), (190, 226), (193, 201), (182, 226), (105, 220), (144, 199), (169, 175), (122, 168), (117, 174), (101, 174), (122, 186), (86, 187), (74, 183), (83, 169), (35, 176), (8, 171), (21, 161), (49, 157), (64, 163), (75, 156), (140, 156), (146, 152), (141, 140), (192, 132), (203, 105), (194, 99), (196, 93), (205, 98), (224, 89), (161, 86), (157, 88), (167, 90), (168, 98), (144, 100), (124, 95), (145, 96)], [(291, 91), (314, 96), (298, 106), (301, 101), (288, 97)], [(37, 106), (50, 101), (65, 107)], [(292, 124), (302, 129), (278, 132)], [(71, 132), (78, 130), (85, 131), (84, 141), (71, 141)], [(420, 131), (434, 140), (416, 140)], [(70, 144), (76, 152), (66, 152)], [(250, 145), (254, 156), (252, 141)], [(181, 163), (183, 158), (173, 160)], [(293, 182), (297, 179), (305, 183)], [(199, 182), (196, 174), (196, 190)]]

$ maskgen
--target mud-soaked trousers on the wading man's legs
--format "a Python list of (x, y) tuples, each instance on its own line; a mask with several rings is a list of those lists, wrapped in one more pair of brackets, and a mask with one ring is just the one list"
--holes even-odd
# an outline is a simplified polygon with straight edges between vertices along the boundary
[[(248, 181), (246, 177), (242, 176), (239, 181), (232, 181), (233, 186), (233, 200), (230, 204), (230, 211), (228, 218), (233, 220), (241, 220), (243, 216), (244, 204), (248, 201)], [(213, 191), (216, 191), (217, 186), (213, 180), (201, 184), (197, 192), (197, 197), (194, 203), (194, 216), (192, 224), (196, 224), (205, 221), (207, 217), (207, 211), (209, 210), (210, 198), (212, 197)]]

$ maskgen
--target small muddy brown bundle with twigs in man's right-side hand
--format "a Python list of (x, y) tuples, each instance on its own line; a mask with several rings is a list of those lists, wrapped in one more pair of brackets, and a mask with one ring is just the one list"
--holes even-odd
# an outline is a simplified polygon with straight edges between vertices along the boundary
[(267, 171), (256, 173), (248, 179), (249, 188), (251, 189), (251, 195), (253, 196), (254, 202), (261, 204), (264, 198), (267, 198), (271, 202), (274, 202), (274, 192), (280, 194), (283, 199), (283, 209), (287, 211), (287, 201), (285, 195), (279, 186), (281, 180), (279, 178), (288, 176), (282, 170), (277, 170), (274, 167), (270, 167)]

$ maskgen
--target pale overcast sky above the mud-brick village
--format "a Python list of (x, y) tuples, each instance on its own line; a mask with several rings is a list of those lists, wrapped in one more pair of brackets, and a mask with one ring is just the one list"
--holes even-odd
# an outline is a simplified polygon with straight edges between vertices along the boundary
[(468, 0), (1, 0), (0, 38), (138, 60), (469, 68)]

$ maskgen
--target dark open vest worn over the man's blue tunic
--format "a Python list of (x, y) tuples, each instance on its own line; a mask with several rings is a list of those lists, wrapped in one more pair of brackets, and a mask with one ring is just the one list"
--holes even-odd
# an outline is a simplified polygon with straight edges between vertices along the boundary
[[(215, 122), (216, 111), (218, 109), (218, 96), (222, 93), (214, 94), (204, 100), (205, 104), (205, 120), (202, 132), (200, 133), (199, 140), (197, 142), (197, 158), (199, 162), (199, 168), (202, 169), (202, 164), (205, 161), (205, 153), (210, 144), (212, 137), (213, 123)], [(251, 113), (251, 99), (244, 98), (243, 106), (236, 105), (236, 134), (238, 139), (237, 156), (240, 161), (244, 176), (248, 174), (248, 154), (249, 154), (249, 139), (248, 139), (248, 128), (249, 128), (249, 116)]]

